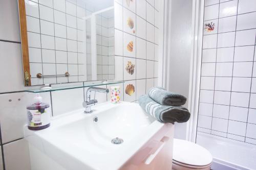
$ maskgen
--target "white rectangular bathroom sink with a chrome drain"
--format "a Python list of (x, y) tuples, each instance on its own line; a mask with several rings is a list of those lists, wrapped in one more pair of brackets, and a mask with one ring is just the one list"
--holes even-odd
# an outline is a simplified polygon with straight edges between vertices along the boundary
[(92, 109), (92, 114), (81, 109), (56, 116), (44, 130), (25, 128), (26, 139), (65, 169), (119, 169), (161, 129), (164, 135), (172, 126), (134, 103), (107, 102)]

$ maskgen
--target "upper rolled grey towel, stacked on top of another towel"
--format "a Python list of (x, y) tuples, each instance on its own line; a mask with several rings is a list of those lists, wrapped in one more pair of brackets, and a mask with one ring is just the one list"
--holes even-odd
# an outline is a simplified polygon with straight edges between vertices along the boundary
[(152, 87), (148, 91), (148, 96), (157, 103), (166, 106), (181, 106), (187, 100), (183, 95), (169, 92), (162, 87)]

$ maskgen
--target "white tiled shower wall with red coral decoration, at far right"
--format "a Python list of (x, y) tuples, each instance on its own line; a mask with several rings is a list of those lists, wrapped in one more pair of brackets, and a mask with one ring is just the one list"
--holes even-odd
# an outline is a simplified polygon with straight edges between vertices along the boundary
[(256, 1), (205, 0), (198, 132), (256, 144)]

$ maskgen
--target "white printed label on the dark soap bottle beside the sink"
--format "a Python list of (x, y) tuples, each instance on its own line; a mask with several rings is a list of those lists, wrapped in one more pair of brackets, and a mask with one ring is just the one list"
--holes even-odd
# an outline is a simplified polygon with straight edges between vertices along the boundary
[(40, 127), (50, 123), (50, 113), (47, 109), (27, 110), (28, 126)]

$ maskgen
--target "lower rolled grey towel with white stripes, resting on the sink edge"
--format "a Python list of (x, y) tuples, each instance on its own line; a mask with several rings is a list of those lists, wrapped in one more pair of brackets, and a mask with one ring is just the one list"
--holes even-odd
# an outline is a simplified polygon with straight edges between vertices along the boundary
[(172, 123), (187, 122), (190, 117), (189, 111), (182, 106), (163, 106), (153, 101), (148, 95), (141, 95), (139, 105), (147, 113), (155, 117), (159, 122)]

